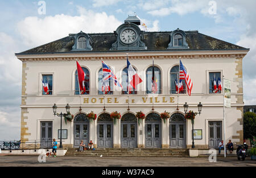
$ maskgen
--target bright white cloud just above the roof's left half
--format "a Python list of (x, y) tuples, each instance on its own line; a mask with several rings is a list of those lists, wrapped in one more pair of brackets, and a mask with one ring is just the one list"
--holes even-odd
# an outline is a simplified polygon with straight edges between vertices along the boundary
[(105, 12), (95, 13), (80, 6), (77, 6), (77, 10), (79, 16), (64, 14), (44, 18), (28, 16), (18, 23), (18, 31), (24, 44), (35, 47), (80, 31), (113, 32), (122, 23), (115, 16)]

